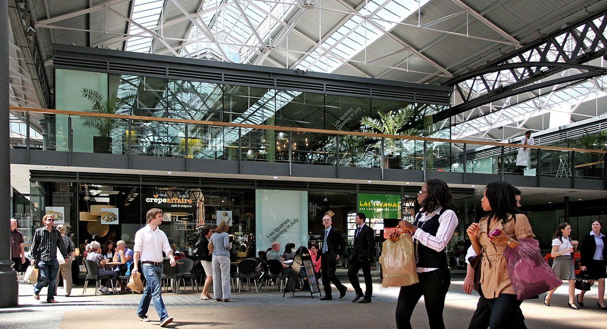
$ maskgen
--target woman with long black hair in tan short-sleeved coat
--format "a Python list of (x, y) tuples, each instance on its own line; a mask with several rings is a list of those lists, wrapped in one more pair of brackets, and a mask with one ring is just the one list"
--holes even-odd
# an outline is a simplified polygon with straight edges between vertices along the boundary
[(526, 328), (518, 309), (522, 300), (508, 275), (506, 248), (516, 248), (517, 240), (534, 237), (527, 216), (516, 206), (514, 188), (505, 181), (487, 185), (481, 206), (489, 215), (467, 229), (476, 254), (483, 255), (481, 262), (481, 291), (491, 309), (489, 327)]

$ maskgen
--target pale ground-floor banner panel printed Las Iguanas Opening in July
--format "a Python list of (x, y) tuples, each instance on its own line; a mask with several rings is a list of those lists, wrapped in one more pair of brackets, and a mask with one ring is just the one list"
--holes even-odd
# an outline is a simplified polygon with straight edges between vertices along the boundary
[[(308, 246), (308, 192), (257, 189), (255, 191), (257, 251), (279, 242)], [(281, 250), (282, 251), (282, 250)]]

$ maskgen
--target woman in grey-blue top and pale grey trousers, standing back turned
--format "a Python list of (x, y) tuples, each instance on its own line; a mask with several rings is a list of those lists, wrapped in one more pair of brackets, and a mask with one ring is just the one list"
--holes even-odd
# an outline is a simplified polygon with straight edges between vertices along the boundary
[(229, 251), (232, 249), (232, 243), (229, 242), (228, 230), (228, 223), (220, 222), (211, 235), (211, 241), (208, 245), (209, 251), (213, 255), (213, 290), (217, 302), (229, 302), (232, 297), (232, 288), (229, 282)]

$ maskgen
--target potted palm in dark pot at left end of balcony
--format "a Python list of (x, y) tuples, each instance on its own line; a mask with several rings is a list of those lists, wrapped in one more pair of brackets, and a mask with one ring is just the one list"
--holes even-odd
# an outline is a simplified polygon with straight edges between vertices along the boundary
[[(117, 110), (128, 105), (135, 95), (127, 95), (118, 97), (117, 93), (111, 93), (109, 97), (104, 97), (100, 92), (93, 89), (83, 88), (80, 91), (84, 98), (90, 101), (90, 109), (84, 112), (116, 114)], [(114, 118), (105, 117), (80, 117), (82, 124), (85, 127), (90, 127), (97, 130), (98, 135), (93, 136), (93, 152), (95, 153), (111, 153), (112, 137), (110, 132), (115, 129), (117, 120)]]

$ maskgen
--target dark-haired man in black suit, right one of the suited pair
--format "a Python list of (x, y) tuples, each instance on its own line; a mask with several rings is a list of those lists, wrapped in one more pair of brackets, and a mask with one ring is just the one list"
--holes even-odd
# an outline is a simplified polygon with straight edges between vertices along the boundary
[(361, 304), (371, 302), (373, 294), (373, 282), (371, 281), (371, 262), (375, 256), (375, 233), (370, 226), (365, 225), (367, 216), (362, 212), (356, 213), (356, 231), (354, 232), (354, 251), (350, 259), (348, 268), (348, 277), (352, 288), (356, 292), (353, 303), (363, 297), (360, 283), (358, 283), (358, 271), (362, 268), (362, 275), (365, 277), (365, 294), (359, 302)]

